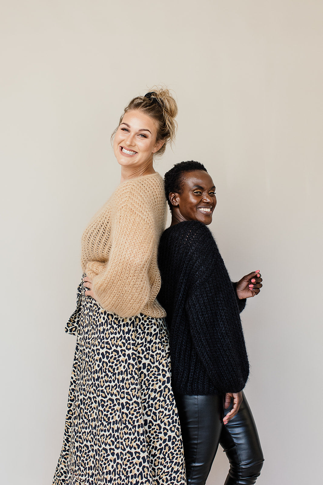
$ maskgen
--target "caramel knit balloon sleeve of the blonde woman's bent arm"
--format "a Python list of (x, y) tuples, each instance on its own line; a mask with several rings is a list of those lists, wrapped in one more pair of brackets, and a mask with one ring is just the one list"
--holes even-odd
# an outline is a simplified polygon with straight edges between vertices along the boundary
[(123, 317), (140, 313), (150, 296), (148, 267), (156, 244), (151, 210), (133, 192), (120, 194), (112, 213), (108, 263), (93, 279), (98, 303)]

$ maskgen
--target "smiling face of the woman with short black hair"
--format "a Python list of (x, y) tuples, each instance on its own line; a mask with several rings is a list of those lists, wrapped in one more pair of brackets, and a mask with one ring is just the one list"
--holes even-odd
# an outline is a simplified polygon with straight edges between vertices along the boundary
[[(169, 194), (172, 215), (177, 222), (200, 221), (211, 224), (216, 206), (215, 185), (204, 170), (183, 172), (181, 192)], [(176, 222), (175, 222), (176, 223)]]

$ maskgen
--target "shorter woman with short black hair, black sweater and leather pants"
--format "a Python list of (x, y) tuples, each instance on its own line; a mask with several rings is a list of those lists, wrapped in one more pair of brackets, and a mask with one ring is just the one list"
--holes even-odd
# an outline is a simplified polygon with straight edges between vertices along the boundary
[(231, 283), (207, 227), (215, 186), (201, 163), (177, 163), (164, 181), (171, 225), (159, 243), (158, 300), (167, 312), (187, 484), (205, 484), (219, 442), (230, 461), (225, 485), (254, 484), (263, 456), (242, 394), (249, 364), (239, 312), (259, 293), (261, 275)]

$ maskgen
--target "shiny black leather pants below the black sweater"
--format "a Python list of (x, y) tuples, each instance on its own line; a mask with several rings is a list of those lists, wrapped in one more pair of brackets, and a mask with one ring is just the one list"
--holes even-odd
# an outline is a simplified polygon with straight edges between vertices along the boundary
[[(175, 394), (175, 400), (183, 436), (187, 484), (205, 484), (219, 443), (230, 462), (224, 485), (255, 484), (261, 472), (263, 455), (245, 395), (238, 414), (227, 425), (222, 421), (221, 395)], [(230, 409), (226, 409), (226, 413)]]

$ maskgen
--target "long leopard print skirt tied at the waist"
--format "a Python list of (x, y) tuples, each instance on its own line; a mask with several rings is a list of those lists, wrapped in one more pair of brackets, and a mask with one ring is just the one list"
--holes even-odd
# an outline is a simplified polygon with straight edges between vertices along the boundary
[(185, 485), (164, 319), (108, 313), (81, 283), (65, 330), (77, 344), (53, 485)]

